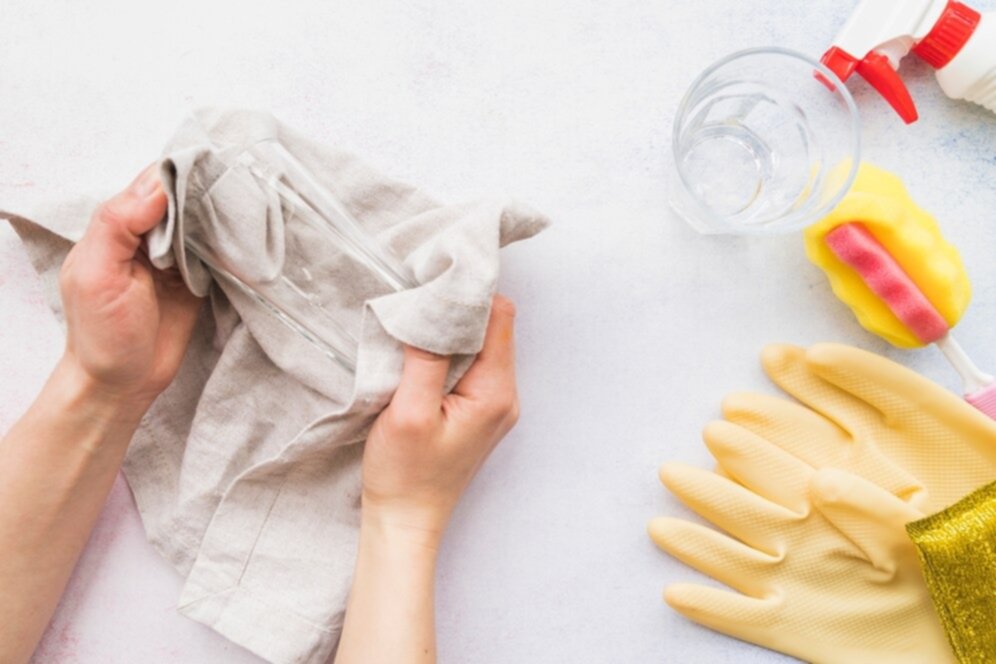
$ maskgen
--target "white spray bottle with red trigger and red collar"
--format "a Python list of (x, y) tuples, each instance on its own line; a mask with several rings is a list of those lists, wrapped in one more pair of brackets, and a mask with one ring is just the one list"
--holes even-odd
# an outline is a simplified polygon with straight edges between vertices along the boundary
[(953, 0), (861, 0), (822, 62), (842, 81), (860, 74), (908, 124), (916, 105), (896, 69), (910, 51), (937, 70), (944, 94), (996, 113), (996, 12)]

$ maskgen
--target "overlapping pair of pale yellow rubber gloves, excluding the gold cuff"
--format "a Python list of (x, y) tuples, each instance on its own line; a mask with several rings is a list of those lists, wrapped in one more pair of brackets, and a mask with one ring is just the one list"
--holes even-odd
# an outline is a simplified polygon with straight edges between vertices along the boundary
[(665, 599), (807, 661), (954, 661), (905, 525), (996, 477), (996, 422), (856, 348), (776, 345), (762, 364), (796, 400), (728, 397), (703, 436), (716, 471), (661, 469), (724, 532), (649, 526), (664, 551), (737, 592), (679, 583)]

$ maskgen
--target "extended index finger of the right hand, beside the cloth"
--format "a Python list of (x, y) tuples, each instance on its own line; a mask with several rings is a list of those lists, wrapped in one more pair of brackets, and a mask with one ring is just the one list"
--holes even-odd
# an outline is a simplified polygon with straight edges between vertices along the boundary
[(467, 373), (453, 389), (461, 396), (514, 399), (515, 387), (515, 305), (496, 295), (484, 335), (484, 346)]

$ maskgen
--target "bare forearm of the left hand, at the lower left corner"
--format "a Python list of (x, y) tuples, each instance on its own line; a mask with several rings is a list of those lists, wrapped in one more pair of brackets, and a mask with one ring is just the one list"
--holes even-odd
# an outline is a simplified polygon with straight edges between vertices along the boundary
[(63, 360), (0, 441), (0, 661), (31, 656), (143, 410)]

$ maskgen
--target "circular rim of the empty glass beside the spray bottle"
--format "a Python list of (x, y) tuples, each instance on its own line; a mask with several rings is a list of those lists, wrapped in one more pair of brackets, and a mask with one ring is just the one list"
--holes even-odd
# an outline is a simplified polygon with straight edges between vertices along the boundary
[(678, 164), (678, 145), (679, 136), (681, 134), (681, 124), (682, 118), (685, 116), (688, 107), (691, 103), (692, 94), (698, 89), (703, 82), (705, 82), (709, 77), (715, 74), (719, 69), (725, 67), (735, 60), (744, 59), (756, 55), (776, 55), (776, 56), (786, 56), (788, 58), (798, 60), (805, 65), (812, 67), (816, 72), (825, 77), (827, 81), (833, 86), (830, 90), (831, 94), (838, 94), (843, 100), (847, 107), (847, 115), (850, 120), (851, 126), (851, 164), (848, 171), (847, 177), (841, 183), (839, 190), (825, 202), (821, 203), (814, 211), (796, 211), (789, 213), (778, 219), (769, 220), (768, 222), (761, 223), (758, 225), (743, 225), (736, 226), (736, 230), (732, 231), (738, 235), (772, 235), (780, 232), (789, 232), (802, 228), (807, 225), (807, 220), (812, 219), (816, 221), (817, 219), (825, 216), (831, 210), (833, 210), (844, 195), (850, 190), (851, 185), (854, 183), (854, 178), (858, 174), (858, 166), (860, 165), (860, 155), (861, 155), (861, 116), (858, 113), (858, 105), (854, 101), (854, 97), (851, 95), (850, 90), (844, 85), (844, 82), (840, 80), (831, 69), (826, 67), (823, 63), (818, 60), (814, 60), (805, 53), (800, 53), (789, 48), (782, 48), (780, 46), (760, 46), (754, 48), (747, 48), (740, 51), (735, 51), (726, 55), (719, 60), (716, 60), (711, 65), (703, 69), (698, 76), (692, 81), (685, 91), (685, 94), (681, 98), (681, 102), (678, 104), (678, 112), (674, 117), (674, 125), (671, 129), (671, 159), (675, 171), (677, 172), (678, 179), (681, 183), (681, 188), (688, 194), (690, 202), (694, 204), (696, 211), (705, 212), (705, 215), (699, 215), (704, 219), (709, 219), (707, 222), (709, 226), (722, 226), (724, 230), (730, 230), (734, 228), (733, 226), (727, 226), (722, 222), (715, 224), (712, 220), (721, 218), (720, 215), (713, 212), (707, 206), (705, 206), (696, 196), (691, 194), (692, 188), (689, 185), (688, 180), (685, 178), (685, 174), (682, 172), (680, 165)]

